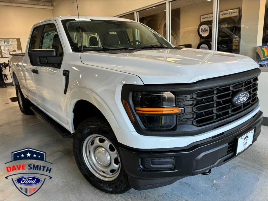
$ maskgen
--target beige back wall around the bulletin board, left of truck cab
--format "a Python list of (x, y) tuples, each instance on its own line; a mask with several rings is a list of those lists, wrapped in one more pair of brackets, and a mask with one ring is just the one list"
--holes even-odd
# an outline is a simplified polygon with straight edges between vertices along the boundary
[[(25, 52), (32, 25), (52, 17), (51, 9), (0, 6), (0, 38), (20, 38)], [(8, 58), (0, 58), (0, 63)]]

